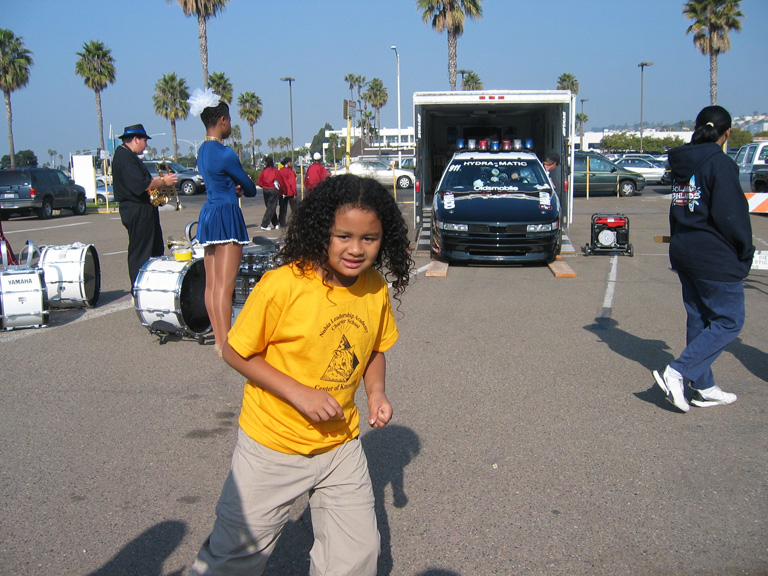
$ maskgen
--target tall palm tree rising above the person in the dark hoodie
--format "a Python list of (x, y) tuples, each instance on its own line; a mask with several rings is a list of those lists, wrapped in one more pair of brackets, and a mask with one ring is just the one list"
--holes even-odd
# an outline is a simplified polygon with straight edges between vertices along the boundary
[(731, 49), (728, 32), (741, 30), (744, 14), (739, 10), (740, 0), (689, 0), (683, 15), (693, 20), (686, 34), (693, 33), (693, 45), (709, 54), (709, 102), (717, 104), (717, 56)]

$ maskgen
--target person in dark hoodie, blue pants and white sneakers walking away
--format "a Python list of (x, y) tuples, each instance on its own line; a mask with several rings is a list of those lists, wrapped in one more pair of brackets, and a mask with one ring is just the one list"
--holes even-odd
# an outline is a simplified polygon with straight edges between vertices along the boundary
[(739, 170), (723, 152), (730, 133), (728, 111), (707, 106), (696, 117), (690, 144), (669, 151), (669, 260), (682, 284), (687, 346), (653, 377), (683, 412), (690, 409), (684, 378), (693, 389), (694, 406), (736, 401), (736, 394), (721, 390), (712, 375), (712, 363), (744, 326), (744, 278), (755, 251)]

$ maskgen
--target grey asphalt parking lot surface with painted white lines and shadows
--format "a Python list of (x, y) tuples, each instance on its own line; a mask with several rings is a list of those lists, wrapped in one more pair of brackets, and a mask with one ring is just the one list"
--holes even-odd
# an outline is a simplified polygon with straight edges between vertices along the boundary
[[(163, 210), (166, 237), (202, 201)], [(768, 271), (746, 280), (745, 328), (714, 367), (738, 402), (677, 412), (650, 375), (685, 343), (679, 283), (653, 241), (668, 206), (654, 187), (577, 198), (563, 257), (575, 278), (427, 277), (416, 253), (387, 354), (395, 416), (362, 430), (380, 575), (768, 574)], [(243, 209), (260, 235), (261, 198)], [(597, 212), (630, 218), (634, 257), (580, 253)], [(768, 218), (752, 225), (768, 250)], [(243, 379), (212, 344), (160, 345), (141, 326), (117, 214), (3, 229), (17, 252), (93, 244), (102, 293), (47, 328), (0, 332), (0, 572), (184, 574), (212, 526)], [(297, 502), (266, 574), (307, 574), (311, 542)]]

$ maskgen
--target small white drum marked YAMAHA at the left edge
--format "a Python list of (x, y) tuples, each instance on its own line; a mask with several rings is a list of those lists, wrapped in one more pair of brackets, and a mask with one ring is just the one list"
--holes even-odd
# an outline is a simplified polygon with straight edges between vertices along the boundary
[(3, 330), (48, 326), (48, 311), (42, 270), (8, 268), (0, 271), (0, 319)]

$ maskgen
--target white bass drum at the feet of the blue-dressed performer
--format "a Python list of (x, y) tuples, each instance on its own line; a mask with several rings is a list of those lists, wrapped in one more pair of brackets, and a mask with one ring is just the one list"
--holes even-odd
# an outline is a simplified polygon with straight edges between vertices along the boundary
[(150, 332), (200, 338), (211, 331), (202, 259), (150, 258), (133, 286), (135, 309)]

